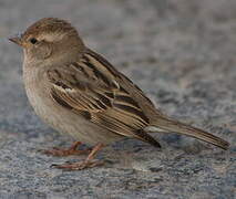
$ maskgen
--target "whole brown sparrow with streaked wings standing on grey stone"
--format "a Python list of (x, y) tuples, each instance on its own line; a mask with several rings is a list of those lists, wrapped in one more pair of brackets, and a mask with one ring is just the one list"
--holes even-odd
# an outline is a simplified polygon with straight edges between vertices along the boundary
[(81, 163), (54, 165), (79, 170), (101, 165), (95, 154), (123, 137), (137, 138), (155, 147), (148, 133), (178, 133), (223, 149), (229, 144), (196, 127), (172, 119), (156, 109), (144, 93), (103, 56), (86, 48), (69, 22), (44, 18), (10, 41), (23, 48), (23, 81), (35, 113), (51, 127), (75, 140), (95, 146), (78, 150), (45, 150), (54, 156), (90, 151)]

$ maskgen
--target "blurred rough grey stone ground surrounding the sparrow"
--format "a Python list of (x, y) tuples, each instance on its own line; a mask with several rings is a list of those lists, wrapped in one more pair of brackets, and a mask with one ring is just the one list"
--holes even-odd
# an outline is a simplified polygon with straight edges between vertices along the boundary
[[(125, 139), (100, 153), (101, 168), (50, 168), (84, 157), (38, 151), (73, 140), (34, 115), (22, 85), (22, 51), (6, 39), (44, 17), (71, 21), (157, 107), (225, 138), (229, 150), (155, 134), (162, 150)], [(235, 197), (235, 0), (0, 0), (0, 198)]]

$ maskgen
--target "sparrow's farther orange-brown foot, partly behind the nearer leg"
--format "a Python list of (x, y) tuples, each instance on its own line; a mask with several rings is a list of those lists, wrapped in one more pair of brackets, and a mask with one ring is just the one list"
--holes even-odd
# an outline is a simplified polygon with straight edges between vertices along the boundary
[(71, 155), (81, 155), (91, 151), (91, 149), (79, 150), (76, 149), (81, 145), (80, 142), (75, 142), (70, 148), (58, 148), (53, 147), (52, 149), (41, 150), (43, 154), (51, 156), (71, 156)]

